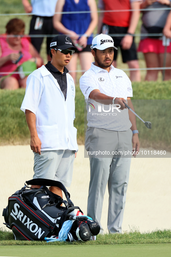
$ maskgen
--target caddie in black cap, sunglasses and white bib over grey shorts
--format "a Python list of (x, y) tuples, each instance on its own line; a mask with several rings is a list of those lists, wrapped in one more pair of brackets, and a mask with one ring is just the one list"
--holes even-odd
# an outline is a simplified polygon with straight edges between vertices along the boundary
[[(52, 39), (49, 54), (52, 61), (27, 78), (21, 110), (30, 130), (34, 152), (33, 178), (46, 178), (70, 187), (73, 161), (78, 151), (75, 118), (75, 85), (65, 67), (77, 50), (66, 35)], [(40, 187), (41, 185), (32, 185)], [(62, 197), (58, 187), (50, 187)]]

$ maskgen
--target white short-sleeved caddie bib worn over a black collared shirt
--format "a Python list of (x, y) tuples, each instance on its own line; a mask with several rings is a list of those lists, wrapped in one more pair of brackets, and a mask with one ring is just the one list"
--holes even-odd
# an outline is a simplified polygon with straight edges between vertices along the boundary
[(54, 76), (43, 65), (27, 78), (25, 97), (21, 110), (30, 110), (36, 115), (36, 129), (41, 140), (41, 151), (78, 151), (75, 118), (75, 85), (67, 75), (66, 101)]

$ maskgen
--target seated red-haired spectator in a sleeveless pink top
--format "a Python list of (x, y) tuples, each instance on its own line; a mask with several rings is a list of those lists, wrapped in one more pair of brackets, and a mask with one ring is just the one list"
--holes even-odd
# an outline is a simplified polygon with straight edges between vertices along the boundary
[[(6, 25), (6, 34), (14, 37), (0, 38), (0, 72), (14, 72), (26, 61), (36, 62), (41, 67), (43, 60), (29, 40), (20, 35), (24, 34), (25, 23), (20, 19), (11, 19)], [(17, 35), (17, 36), (16, 36)], [(31, 70), (29, 70), (31, 71)], [(27, 76), (19, 74), (3, 74), (0, 78), (0, 88), (17, 89), (26, 87)]]

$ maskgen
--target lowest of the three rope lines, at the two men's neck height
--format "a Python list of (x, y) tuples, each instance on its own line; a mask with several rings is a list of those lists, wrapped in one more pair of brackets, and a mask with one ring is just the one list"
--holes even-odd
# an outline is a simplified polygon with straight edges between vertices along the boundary
[[(119, 69), (124, 71), (131, 71), (131, 70), (171, 70), (171, 67), (155, 67), (155, 68), (124, 68)], [(69, 70), (69, 72), (86, 72), (87, 70)], [(4, 74), (28, 74), (32, 73), (32, 71), (15, 71), (15, 72), (0, 72), (0, 75)]]

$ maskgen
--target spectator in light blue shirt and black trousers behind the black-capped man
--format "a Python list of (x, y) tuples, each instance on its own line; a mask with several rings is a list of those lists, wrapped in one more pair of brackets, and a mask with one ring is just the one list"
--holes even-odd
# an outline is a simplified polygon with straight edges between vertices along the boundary
[[(22, 0), (25, 12), (34, 13), (30, 22), (30, 35), (58, 34), (58, 32), (53, 28), (52, 24), (56, 2), (57, 0), (31, 0), (31, 5), (28, 0)], [(51, 61), (51, 57), (49, 56), (49, 46), (52, 39), (53, 37), (47, 37), (46, 39), (48, 61)], [(31, 42), (38, 53), (40, 53), (43, 37), (32, 37)]]

